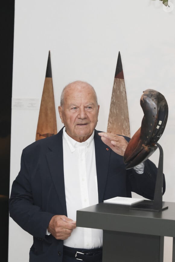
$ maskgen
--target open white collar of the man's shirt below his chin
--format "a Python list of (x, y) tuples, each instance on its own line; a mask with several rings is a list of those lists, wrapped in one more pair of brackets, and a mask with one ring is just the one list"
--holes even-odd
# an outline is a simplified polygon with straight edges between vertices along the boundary
[(66, 131), (65, 131), (65, 127), (63, 128), (63, 139), (67, 142), (71, 152), (75, 151), (75, 148), (77, 147), (89, 147), (93, 140), (94, 140), (94, 131), (93, 133), (91, 134), (91, 136), (84, 142), (77, 142), (76, 140), (74, 140), (72, 137), (70, 137)]

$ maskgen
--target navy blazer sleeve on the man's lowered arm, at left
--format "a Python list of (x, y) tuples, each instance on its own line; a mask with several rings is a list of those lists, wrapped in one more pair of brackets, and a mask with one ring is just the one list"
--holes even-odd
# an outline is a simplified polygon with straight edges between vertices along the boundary
[(55, 214), (43, 212), (33, 201), (30, 166), (24, 150), (21, 169), (14, 180), (9, 200), (9, 212), (14, 221), (34, 237), (44, 239), (50, 219)]

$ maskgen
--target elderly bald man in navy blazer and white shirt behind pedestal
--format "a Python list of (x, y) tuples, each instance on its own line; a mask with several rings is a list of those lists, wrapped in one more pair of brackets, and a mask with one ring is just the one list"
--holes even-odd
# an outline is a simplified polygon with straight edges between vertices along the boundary
[(33, 235), (31, 262), (102, 261), (102, 230), (76, 227), (76, 210), (131, 191), (154, 197), (155, 165), (146, 160), (126, 171), (129, 139), (95, 130), (98, 112), (90, 84), (68, 84), (59, 106), (65, 127), (23, 150), (10, 216)]

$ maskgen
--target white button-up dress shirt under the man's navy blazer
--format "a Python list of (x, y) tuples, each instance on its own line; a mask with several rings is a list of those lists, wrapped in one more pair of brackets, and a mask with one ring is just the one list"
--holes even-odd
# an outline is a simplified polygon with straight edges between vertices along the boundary
[[(63, 129), (63, 164), (68, 218), (76, 220), (76, 211), (98, 204), (94, 132), (79, 143)], [(64, 245), (72, 248), (100, 248), (103, 230), (76, 227)]]

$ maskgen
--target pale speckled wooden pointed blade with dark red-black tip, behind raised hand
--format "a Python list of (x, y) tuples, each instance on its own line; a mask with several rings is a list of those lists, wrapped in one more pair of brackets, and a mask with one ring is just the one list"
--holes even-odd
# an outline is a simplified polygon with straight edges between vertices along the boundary
[(128, 103), (120, 52), (114, 77), (107, 132), (130, 137)]

